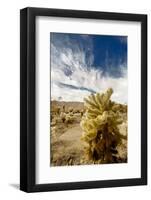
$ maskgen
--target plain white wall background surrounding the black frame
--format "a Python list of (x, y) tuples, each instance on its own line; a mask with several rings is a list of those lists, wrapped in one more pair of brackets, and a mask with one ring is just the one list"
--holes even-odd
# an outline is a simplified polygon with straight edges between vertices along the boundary
[[(151, 34), (150, 0), (4, 0), (0, 3), (0, 199), (150, 199), (151, 136), (148, 130), (149, 185), (81, 191), (26, 194), (19, 191), (19, 9), (27, 6), (83, 9), (148, 14), (148, 35)], [(151, 40), (148, 38), (148, 55)], [(148, 66), (151, 64), (148, 56)], [(151, 74), (148, 67), (148, 74)], [(149, 78), (149, 87), (151, 79)], [(148, 101), (151, 100), (150, 92)], [(150, 105), (148, 107), (150, 110)], [(148, 115), (150, 124), (151, 114)]]

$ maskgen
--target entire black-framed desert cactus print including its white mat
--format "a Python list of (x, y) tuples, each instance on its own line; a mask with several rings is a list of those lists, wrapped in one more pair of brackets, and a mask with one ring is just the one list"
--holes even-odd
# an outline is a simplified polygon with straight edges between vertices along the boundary
[(20, 12), (20, 189), (147, 184), (147, 16)]

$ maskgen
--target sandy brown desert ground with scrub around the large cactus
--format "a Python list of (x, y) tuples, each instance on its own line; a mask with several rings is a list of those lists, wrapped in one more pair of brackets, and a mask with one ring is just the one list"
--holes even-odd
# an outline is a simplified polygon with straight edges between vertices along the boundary
[[(85, 157), (87, 144), (81, 140), (83, 102), (51, 101), (50, 166), (84, 165), (94, 162)], [(127, 136), (127, 112), (122, 112), (120, 133)], [(127, 140), (117, 147), (116, 163), (127, 162)]]

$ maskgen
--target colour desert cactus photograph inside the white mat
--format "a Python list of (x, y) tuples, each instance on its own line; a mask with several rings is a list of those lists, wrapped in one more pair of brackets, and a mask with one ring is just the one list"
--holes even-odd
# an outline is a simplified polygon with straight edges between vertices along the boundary
[(128, 37), (50, 33), (50, 167), (128, 162)]

